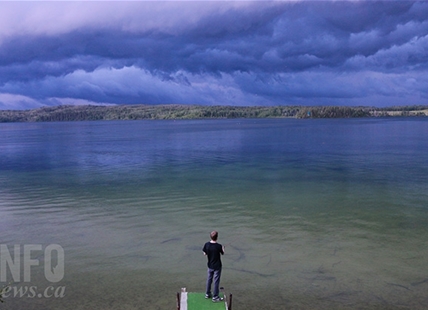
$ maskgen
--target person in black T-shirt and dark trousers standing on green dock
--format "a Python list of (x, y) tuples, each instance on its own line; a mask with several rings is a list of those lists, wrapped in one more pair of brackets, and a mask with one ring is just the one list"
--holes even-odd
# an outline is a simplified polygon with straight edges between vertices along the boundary
[(211, 241), (205, 243), (202, 251), (208, 257), (207, 271), (207, 289), (205, 298), (211, 298), (211, 284), (214, 279), (214, 295), (213, 302), (222, 301), (223, 298), (218, 296), (221, 276), (221, 255), (224, 254), (224, 246), (217, 243), (218, 232), (212, 231), (210, 234)]

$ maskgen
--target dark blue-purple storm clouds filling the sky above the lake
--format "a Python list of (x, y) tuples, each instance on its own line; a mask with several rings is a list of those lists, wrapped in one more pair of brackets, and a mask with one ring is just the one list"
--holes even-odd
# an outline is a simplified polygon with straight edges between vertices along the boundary
[(428, 2), (0, 2), (0, 109), (428, 104)]

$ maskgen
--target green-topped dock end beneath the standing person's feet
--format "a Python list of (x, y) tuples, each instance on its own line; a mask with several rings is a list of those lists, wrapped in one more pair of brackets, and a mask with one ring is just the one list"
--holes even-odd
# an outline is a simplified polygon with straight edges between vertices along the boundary
[(232, 310), (232, 294), (229, 298), (224, 293), (221, 295), (223, 301), (213, 302), (211, 298), (205, 298), (205, 293), (187, 292), (182, 288), (177, 293), (177, 310)]

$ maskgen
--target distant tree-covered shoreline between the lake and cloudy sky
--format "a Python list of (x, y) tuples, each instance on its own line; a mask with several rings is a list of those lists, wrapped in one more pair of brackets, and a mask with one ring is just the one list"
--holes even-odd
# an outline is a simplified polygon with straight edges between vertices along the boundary
[(428, 106), (201, 106), (201, 105), (61, 105), (33, 110), (0, 110), (0, 123), (142, 119), (221, 118), (361, 118), (428, 116)]

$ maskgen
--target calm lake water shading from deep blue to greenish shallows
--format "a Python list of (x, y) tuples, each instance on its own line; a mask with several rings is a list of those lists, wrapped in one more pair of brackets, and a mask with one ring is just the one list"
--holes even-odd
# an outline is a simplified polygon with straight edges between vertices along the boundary
[(428, 119), (0, 124), (1, 244), (65, 257), (2, 309), (175, 309), (213, 229), (235, 310), (426, 309)]

